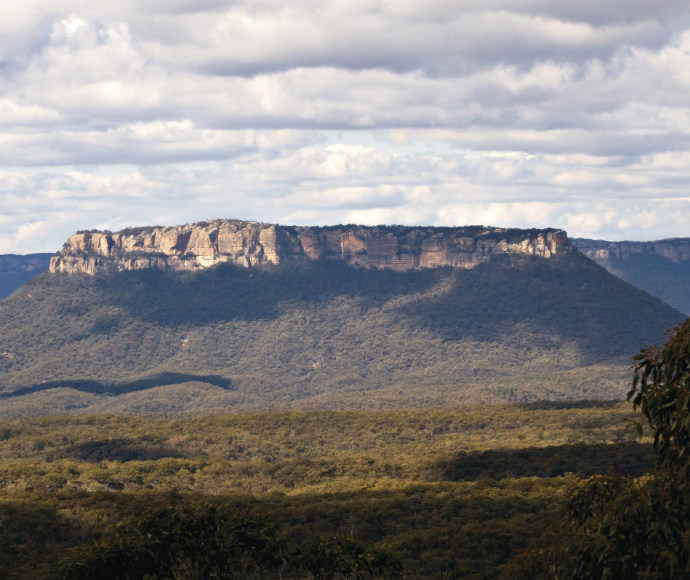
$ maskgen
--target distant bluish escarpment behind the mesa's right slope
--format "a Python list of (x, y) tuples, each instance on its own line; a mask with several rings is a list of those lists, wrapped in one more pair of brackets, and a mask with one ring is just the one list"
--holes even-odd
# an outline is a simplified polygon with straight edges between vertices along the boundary
[(579, 238), (571, 241), (612, 274), (690, 315), (690, 238), (656, 242)]

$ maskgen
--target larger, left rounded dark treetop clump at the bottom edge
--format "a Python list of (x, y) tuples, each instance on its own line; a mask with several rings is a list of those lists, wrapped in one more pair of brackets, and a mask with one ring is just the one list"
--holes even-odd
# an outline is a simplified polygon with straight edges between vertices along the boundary
[(279, 569), (287, 540), (265, 516), (208, 504), (172, 505), (116, 526), (63, 566), (65, 580), (234, 580)]

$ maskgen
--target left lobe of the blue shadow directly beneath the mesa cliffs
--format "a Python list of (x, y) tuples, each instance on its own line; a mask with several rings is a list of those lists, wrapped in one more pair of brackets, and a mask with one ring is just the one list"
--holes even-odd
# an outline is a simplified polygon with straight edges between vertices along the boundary
[(291, 262), (241, 268), (220, 264), (197, 272), (139, 270), (98, 276), (98, 295), (137, 318), (165, 326), (231, 320), (275, 320), (299, 306), (356, 297), (366, 311), (396, 296), (424, 292), (438, 271), (367, 270), (345, 263)]

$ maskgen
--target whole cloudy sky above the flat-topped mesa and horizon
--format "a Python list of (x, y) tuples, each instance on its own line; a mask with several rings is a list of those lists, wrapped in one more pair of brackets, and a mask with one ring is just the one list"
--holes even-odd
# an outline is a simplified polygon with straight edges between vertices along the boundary
[(0, 4), (0, 253), (215, 218), (690, 236), (686, 0)]

